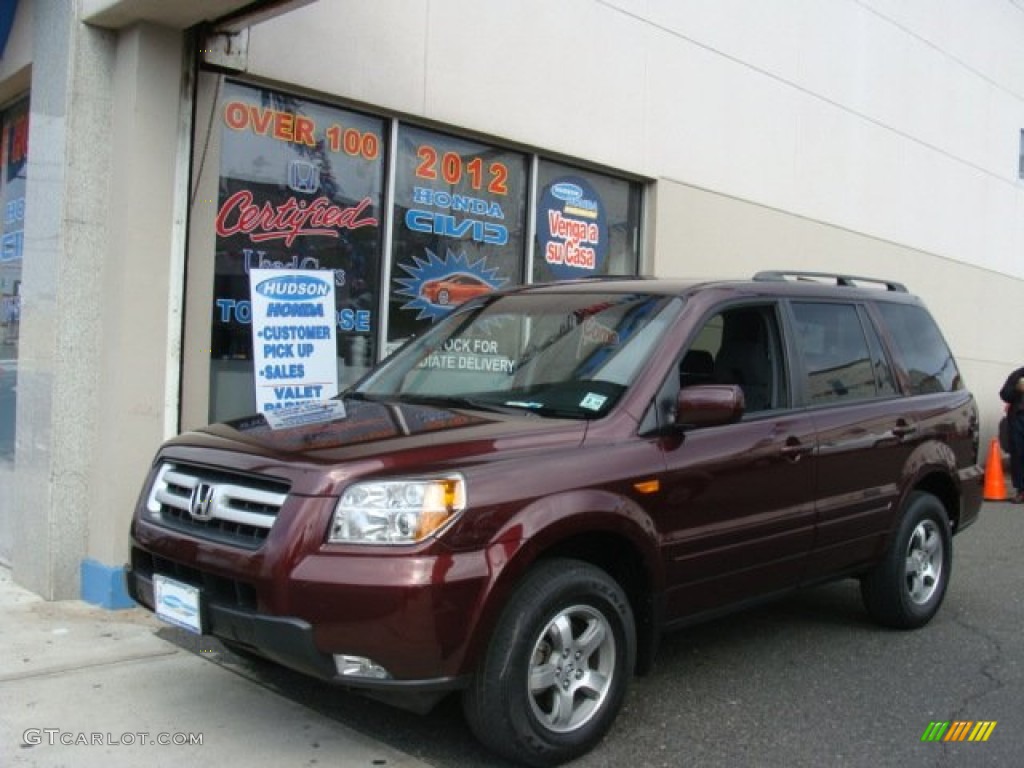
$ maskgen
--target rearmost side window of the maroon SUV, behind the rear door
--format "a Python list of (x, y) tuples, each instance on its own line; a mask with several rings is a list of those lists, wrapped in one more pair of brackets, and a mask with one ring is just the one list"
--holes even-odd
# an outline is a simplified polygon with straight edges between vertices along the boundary
[(911, 394), (964, 388), (956, 362), (928, 310), (912, 304), (879, 304)]

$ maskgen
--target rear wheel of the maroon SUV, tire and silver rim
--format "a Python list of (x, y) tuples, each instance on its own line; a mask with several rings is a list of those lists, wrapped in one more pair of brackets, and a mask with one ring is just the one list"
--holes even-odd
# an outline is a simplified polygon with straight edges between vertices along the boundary
[(861, 580), (867, 612), (894, 629), (925, 626), (942, 605), (952, 564), (945, 507), (931, 494), (911, 494), (885, 558)]

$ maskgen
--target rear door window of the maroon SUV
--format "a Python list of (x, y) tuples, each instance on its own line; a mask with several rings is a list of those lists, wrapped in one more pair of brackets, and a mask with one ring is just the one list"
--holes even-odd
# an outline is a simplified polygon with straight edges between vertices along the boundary
[[(854, 304), (794, 302), (797, 348), (804, 361), (804, 393), (811, 404), (891, 393), (871, 353)], [(883, 384), (880, 387), (880, 383)]]

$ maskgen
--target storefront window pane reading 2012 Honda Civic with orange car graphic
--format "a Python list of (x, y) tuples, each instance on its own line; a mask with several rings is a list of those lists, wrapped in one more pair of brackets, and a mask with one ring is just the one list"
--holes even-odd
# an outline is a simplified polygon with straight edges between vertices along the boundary
[(401, 126), (395, 156), (388, 343), (523, 281), (527, 158)]

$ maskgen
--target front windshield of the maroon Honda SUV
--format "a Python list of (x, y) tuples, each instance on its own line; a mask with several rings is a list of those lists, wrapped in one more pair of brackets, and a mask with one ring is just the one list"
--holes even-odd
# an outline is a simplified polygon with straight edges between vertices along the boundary
[(489, 297), (453, 311), (348, 394), (599, 418), (681, 306), (646, 294)]

